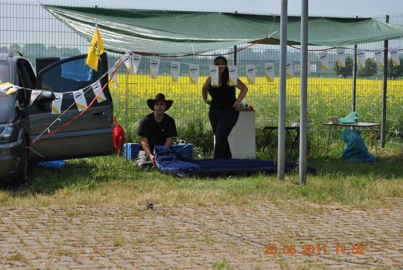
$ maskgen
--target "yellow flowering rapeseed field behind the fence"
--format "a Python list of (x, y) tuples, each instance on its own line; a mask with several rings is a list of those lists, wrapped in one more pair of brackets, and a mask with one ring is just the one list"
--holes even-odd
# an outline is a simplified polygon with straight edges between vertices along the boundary
[[(206, 77), (199, 77), (197, 84), (190, 84), (186, 75), (179, 77), (179, 82), (172, 82), (170, 75), (159, 75), (157, 79), (145, 74), (118, 75), (119, 87), (110, 86), (118, 117), (125, 116), (129, 110), (130, 120), (139, 120), (150, 112), (146, 100), (163, 93), (174, 104), (170, 115), (178, 120), (207, 119), (208, 106), (201, 99), (201, 86)], [(244, 82), (246, 78), (240, 77)], [(249, 92), (246, 102), (256, 106), (256, 118), (276, 120), (279, 104), (279, 80), (268, 83), (264, 77), (256, 77), (255, 84), (247, 84)], [(389, 81), (388, 108), (401, 110), (402, 80)], [(300, 79), (287, 80), (286, 107), (287, 119), (299, 119)], [(382, 81), (358, 79), (356, 86), (356, 111), (364, 121), (381, 117)], [(126, 105), (127, 103), (127, 105)], [(344, 117), (352, 110), (351, 78), (308, 78), (308, 118), (327, 121), (331, 116)], [(322, 124), (322, 123), (321, 123)]]

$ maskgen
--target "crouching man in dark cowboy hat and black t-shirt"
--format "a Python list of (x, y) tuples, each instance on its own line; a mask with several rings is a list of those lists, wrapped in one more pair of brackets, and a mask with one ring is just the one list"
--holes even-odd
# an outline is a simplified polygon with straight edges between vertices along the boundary
[(140, 122), (137, 134), (141, 136), (139, 143), (139, 155), (136, 166), (149, 167), (155, 164), (154, 146), (172, 146), (172, 138), (177, 136), (175, 120), (165, 114), (171, 108), (173, 101), (165, 100), (163, 94), (158, 94), (154, 100), (147, 100), (147, 105), (154, 113), (143, 118)]

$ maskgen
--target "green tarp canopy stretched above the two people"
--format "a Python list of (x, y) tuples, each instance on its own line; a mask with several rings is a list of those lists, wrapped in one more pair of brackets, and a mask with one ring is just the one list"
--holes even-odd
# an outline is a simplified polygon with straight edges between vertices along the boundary
[[(86, 40), (98, 25), (105, 50), (198, 54), (239, 44), (280, 44), (280, 16), (42, 5)], [(309, 17), (308, 44), (328, 47), (403, 37), (403, 26), (371, 18)], [(270, 38), (268, 38), (270, 36)], [(301, 18), (288, 16), (287, 43), (299, 45)]]

